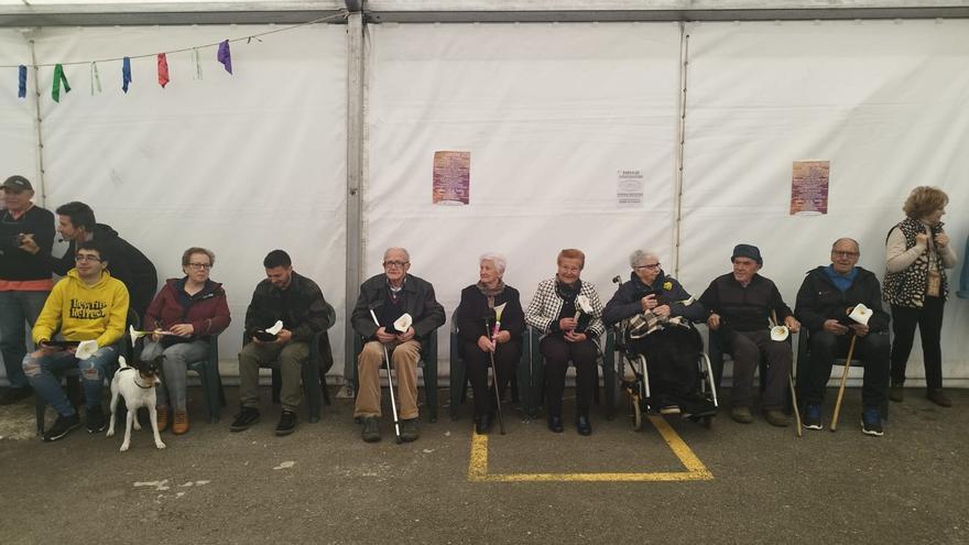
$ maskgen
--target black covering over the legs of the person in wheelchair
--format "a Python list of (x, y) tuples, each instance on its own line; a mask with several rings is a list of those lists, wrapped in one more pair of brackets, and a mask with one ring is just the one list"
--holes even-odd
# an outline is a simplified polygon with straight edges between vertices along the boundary
[(699, 349), (695, 336), (692, 329), (672, 327), (632, 340), (632, 349), (646, 358), (651, 395), (677, 403), (696, 392)]

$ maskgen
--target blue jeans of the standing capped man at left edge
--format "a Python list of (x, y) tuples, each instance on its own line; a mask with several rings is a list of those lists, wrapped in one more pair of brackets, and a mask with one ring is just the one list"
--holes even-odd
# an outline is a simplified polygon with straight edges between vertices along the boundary
[(7, 380), (11, 388), (28, 385), (22, 367), (26, 355), (26, 331), (23, 325), (26, 323), (33, 329), (50, 294), (51, 292), (0, 292), (0, 353), (3, 355), (3, 367), (7, 368)]

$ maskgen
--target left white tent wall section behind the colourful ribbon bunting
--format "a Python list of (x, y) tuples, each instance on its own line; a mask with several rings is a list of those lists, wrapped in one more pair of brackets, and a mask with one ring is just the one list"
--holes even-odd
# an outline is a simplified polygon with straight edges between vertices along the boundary
[[(43, 29), (34, 37), (45, 64), (152, 54), (268, 30), (273, 26)], [(295, 271), (319, 283), (336, 307), (334, 357), (342, 359), (346, 40), (345, 26), (317, 24), (235, 42), (235, 75), (216, 62), (215, 47), (205, 47), (202, 80), (193, 79), (190, 54), (174, 53), (165, 89), (153, 55), (132, 58), (127, 95), (120, 59), (98, 63), (104, 92), (95, 95), (88, 65), (72, 65), (73, 91), (61, 103), (51, 99), (53, 68), (41, 68), (47, 208), (89, 204), (99, 222), (155, 263), (160, 282), (183, 275), (186, 248), (211, 249), (213, 279), (224, 283), (232, 314), (219, 339), (224, 361), (239, 351), (252, 290), (265, 277), (262, 259), (274, 248), (286, 250)], [(29, 64), (25, 47), (12, 63), (10, 50), (0, 51), (3, 64)], [(17, 150), (0, 154), (4, 166), (8, 157), (25, 157), (22, 171), (32, 166), (30, 107), (12, 105), (22, 108), (17, 112), (9, 95), (0, 116), (15, 113), (24, 129), (3, 123), (3, 145)]]

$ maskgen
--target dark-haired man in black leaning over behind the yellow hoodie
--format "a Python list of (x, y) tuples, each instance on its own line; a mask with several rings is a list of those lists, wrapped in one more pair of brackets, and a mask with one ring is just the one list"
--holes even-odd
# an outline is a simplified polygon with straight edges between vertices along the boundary
[[(108, 272), (111, 276), (120, 280), (131, 295), (130, 308), (144, 317), (148, 305), (155, 296), (159, 287), (159, 276), (155, 265), (127, 240), (118, 236), (118, 231), (110, 226), (98, 224), (95, 212), (84, 203), (73, 201), (61, 205), (55, 210), (57, 214), (57, 232), (63, 240), (69, 241), (64, 257), (48, 257), (51, 269), (65, 275), (74, 269), (74, 252), (79, 242), (97, 239), (104, 244), (105, 250), (111, 255), (111, 265)], [(36, 246), (29, 247), (29, 251), (37, 253), (41, 249)], [(50, 249), (42, 253), (48, 255)]]

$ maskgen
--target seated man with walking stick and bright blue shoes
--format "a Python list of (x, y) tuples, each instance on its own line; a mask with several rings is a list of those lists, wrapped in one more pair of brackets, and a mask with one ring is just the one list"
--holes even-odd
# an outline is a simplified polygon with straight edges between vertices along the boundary
[[(889, 388), (891, 318), (882, 308), (878, 277), (857, 266), (860, 254), (854, 240), (836, 240), (831, 247), (831, 264), (809, 271), (797, 292), (794, 315), (810, 331), (804, 427), (821, 429), (821, 402), (832, 361), (848, 353), (853, 336), (857, 337), (853, 355), (864, 361), (861, 432), (881, 436), (884, 432), (879, 407), (884, 405)], [(868, 325), (848, 318), (848, 313), (858, 304), (872, 309)]]

